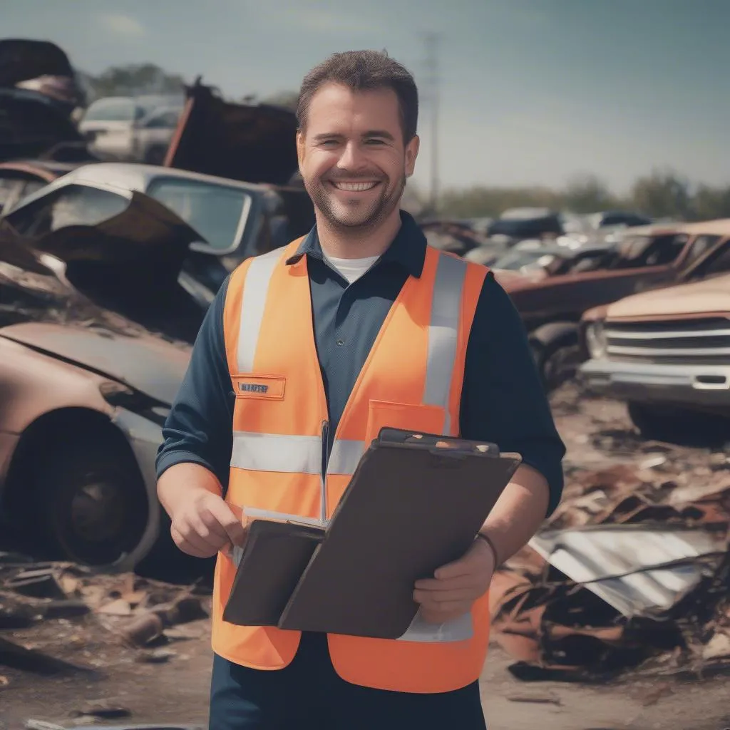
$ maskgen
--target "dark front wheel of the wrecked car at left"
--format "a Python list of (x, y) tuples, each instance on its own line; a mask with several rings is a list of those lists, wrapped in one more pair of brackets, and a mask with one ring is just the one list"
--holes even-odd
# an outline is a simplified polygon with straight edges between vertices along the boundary
[(112, 564), (137, 547), (147, 524), (137, 465), (116, 439), (58, 446), (34, 475), (47, 547), (74, 562)]

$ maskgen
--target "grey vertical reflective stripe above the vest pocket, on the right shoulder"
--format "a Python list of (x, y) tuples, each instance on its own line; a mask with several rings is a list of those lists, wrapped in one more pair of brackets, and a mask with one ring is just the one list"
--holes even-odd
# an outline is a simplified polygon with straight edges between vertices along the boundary
[(461, 316), (461, 292), (466, 277), (466, 261), (445, 254), (439, 255), (434, 282), (429, 324), (429, 355), (426, 365), (426, 405), (446, 410), (444, 433), (449, 434), (449, 394), (456, 361), (456, 342)]

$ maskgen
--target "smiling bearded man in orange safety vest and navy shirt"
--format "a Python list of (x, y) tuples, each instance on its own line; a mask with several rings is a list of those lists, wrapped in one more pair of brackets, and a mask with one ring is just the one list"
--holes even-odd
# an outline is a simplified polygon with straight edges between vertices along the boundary
[[(400, 210), (419, 144), (407, 70), (383, 53), (333, 55), (304, 78), (297, 115), (316, 226), (223, 285), (158, 454), (174, 541), (218, 556), (210, 728), (484, 728), (488, 587), (558, 504), (564, 446), (506, 293), (483, 266), (427, 246)], [(331, 517), (360, 456), (348, 447), (383, 426), (523, 456), (466, 554), (413, 586), (424, 621), (470, 614), (471, 637), (223, 621), (236, 572), (228, 548), (245, 541), (240, 508)]]

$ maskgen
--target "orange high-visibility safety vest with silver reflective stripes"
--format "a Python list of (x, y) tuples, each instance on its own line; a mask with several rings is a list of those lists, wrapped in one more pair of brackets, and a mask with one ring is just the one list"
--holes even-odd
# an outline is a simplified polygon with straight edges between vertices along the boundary
[[(247, 259), (228, 283), (224, 331), (236, 402), (226, 500), (327, 519), (383, 426), (458, 435), (466, 344), (488, 269), (427, 247), (423, 273), (403, 285), (350, 393), (323, 478), (328, 411), (307, 257), (286, 264), (300, 241)], [(219, 553), (213, 650), (255, 669), (287, 666), (299, 631), (223, 621), (236, 566)], [(451, 642), (328, 634), (331, 661), (342, 679), (366, 687), (454, 690), (477, 680), (483, 668), (488, 594), (475, 602), (471, 621), (471, 637)]]

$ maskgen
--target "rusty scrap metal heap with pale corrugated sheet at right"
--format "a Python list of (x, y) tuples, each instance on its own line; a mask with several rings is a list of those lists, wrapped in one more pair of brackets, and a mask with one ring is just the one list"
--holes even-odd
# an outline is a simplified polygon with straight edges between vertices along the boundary
[(493, 637), (522, 680), (730, 667), (730, 456), (583, 472), (497, 572)]

